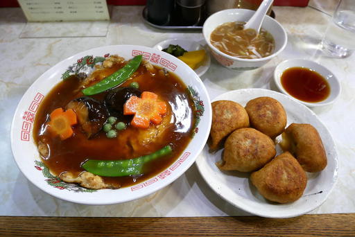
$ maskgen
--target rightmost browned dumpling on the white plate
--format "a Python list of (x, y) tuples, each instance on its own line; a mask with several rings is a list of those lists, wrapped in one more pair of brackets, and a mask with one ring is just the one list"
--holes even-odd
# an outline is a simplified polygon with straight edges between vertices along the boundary
[(290, 151), (307, 172), (327, 166), (327, 156), (318, 131), (308, 123), (292, 123), (282, 134), (283, 150)]

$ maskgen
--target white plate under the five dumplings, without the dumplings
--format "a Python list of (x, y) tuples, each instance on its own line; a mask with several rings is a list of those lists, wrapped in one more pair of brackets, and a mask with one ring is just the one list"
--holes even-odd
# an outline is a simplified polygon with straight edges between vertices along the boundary
[[(320, 206), (336, 184), (338, 155), (335, 143), (327, 128), (311, 109), (279, 92), (268, 89), (239, 89), (222, 94), (214, 101), (233, 100), (245, 106), (249, 100), (259, 96), (270, 96), (282, 103), (287, 113), (287, 125), (310, 123), (318, 130), (327, 154), (327, 167), (320, 173), (307, 173), (309, 179), (304, 194), (299, 200), (289, 204), (275, 204), (264, 199), (249, 181), (249, 173), (219, 170), (215, 163), (220, 161), (222, 150), (211, 154), (206, 145), (196, 160), (198, 170), (207, 184), (220, 197), (244, 211), (268, 218), (291, 218), (303, 215)], [(277, 154), (281, 152), (282, 150), (277, 145)]]

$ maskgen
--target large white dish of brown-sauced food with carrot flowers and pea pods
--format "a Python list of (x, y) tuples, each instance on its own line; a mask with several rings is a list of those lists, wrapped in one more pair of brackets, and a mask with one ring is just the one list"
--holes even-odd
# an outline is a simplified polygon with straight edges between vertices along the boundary
[(46, 193), (80, 204), (144, 197), (180, 177), (205, 146), (209, 96), (178, 58), (146, 46), (90, 49), (28, 88), (12, 154)]

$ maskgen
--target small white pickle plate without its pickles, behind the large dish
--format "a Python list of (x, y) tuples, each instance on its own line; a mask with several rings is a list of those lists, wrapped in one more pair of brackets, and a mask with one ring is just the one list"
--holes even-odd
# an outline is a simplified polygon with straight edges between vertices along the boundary
[[(169, 44), (178, 44), (182, 46), (183, 49), (187, 51), (195, 51), (195, 50), (200, 50), (200, 49), (205, 49), (201, 44), (198, 44), (198, 42), (195, 42), (193, 40), (185, 40), (185, 39), (169, 39), (169, 40), (164, 40), (162, 42), (159, 42), (158, 44), (155, 44), (154, 48), (162, 51), (162, 49), (165, 49), (169, 46)], [(208, 51), (206, 51), (206, 58), (205, 62), (202, 63), (200, 67), (197, 69), (193, 70), (196, 72), (198, 76), (202, 76), (205, 74), (205, 72), (209, 69), (209, 66), (211, 64), (211, 58), (209, 57)]]

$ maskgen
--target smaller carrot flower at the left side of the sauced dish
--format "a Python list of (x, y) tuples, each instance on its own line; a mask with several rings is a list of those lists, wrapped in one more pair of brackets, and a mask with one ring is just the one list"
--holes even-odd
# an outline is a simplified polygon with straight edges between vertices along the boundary
[(49, 115), (49, 118), (49, 130), (54, 134), (59, 135), (62, 140), (73, 135), (71, 125), (78, 123), (76, 113), (73, 112), (73, 109), (67, 109), (65, 112), (62, 108), (54, 109)]

